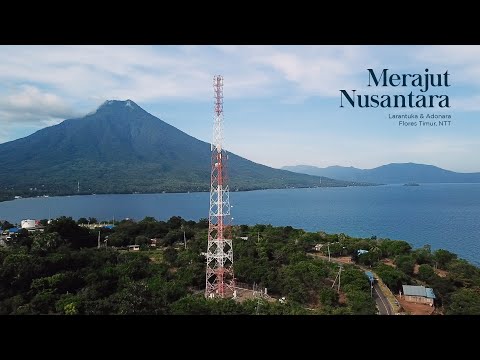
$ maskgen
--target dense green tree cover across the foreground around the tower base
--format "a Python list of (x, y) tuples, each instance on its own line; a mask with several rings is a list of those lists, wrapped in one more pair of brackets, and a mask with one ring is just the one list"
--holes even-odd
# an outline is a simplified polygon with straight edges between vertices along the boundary
[[(147, 217), (95, 230), (79, 225), (84, 223), (88, 220), (62, 217), (43, 233), (22, 230), (0, 247), (0, 314), (375, 314), (368, 280), (356, 266), (344, 266), (340, 292), (332, 288), (338, 265), (311, 254), (313, 245), (322, 243), (329, 243), (332, 256), (351, 255), (372, 267), (394, 292), (401, 284), (425, 284), (434, 288), (446, 314), (480, 314), (479, 269), (429, 246), (412, 250), (404, 241), (235, 226), (237, 281), (267, 288), (273, 299), (286, 302), (206, 300), (205, 219)], [(130, 244), (142, 251), (124, 250)], [(358, 256), (359, 249), (368, 253)], [(387, 257), (396, 267), (382, 262)], [(448, 275), (440, 277), (435, 269)]]

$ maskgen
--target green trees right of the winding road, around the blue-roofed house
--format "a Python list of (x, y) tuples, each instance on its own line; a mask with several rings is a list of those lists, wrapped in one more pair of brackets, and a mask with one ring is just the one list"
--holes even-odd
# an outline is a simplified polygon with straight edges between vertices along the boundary
[[(354, 239), (343, 234), (325, 235), (331, 253), (351, 255), (360, 265), (371, 267), (398, 294), (402, 284), (434, 289), (439, 313), (480, 314), (480, 269), (447, 250), (431, 251), (430, 245), (412, 249), (405, 241)], [(358, 255), (358, 250), (368, 253)], [(382, 260), (393, 260), (393, 265)], [(417, 270), (415, 270), (417, 268)]]

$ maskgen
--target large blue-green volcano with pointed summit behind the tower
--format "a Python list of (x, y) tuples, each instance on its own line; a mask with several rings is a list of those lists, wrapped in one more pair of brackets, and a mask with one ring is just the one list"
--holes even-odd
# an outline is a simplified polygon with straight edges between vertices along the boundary
[[(131, 100), (0, 144), (0, 198), (14, 195), (207, 191), (210, 144), (149, 114)], [(229, 154), (232, 190), (348, 186), (273, 169)]]

